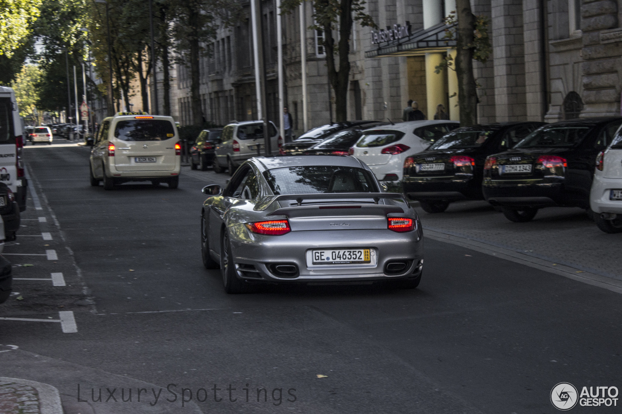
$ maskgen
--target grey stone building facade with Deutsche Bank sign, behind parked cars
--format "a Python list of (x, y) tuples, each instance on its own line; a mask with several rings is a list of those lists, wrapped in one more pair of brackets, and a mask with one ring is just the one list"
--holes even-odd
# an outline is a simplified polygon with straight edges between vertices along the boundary
[[(622, 0), (471, 0), (471, 5), (474, 14), (489, 19), (492, 45), (488, 61), (475, 62), (479, 122), (555, 122), (621, 114)], [(257, 117), (249, 3), (243, 7), (246, 17), (221, 29), (201, 58), (203, 116), (216, 125)], [(303, 7), (304, 68), (300, 13), (283, 18), (285, 106), (296, 134), (332, 122), (335, 114), (323, 34), (309, 29), (311, 2)], [(450, 119), (458, 120), (455, 71), (437, 68), (455, 55), (455, 43), (444, 38), (443, 24), (455, 10), (455, 0), (373, 0), (366, 7), (379, 29), (357, 23), (353, 27), (349, 119), (399, 121), (406, 102), (414, 99), (428, 119), (443, 104)], [(276, 13), (274, 0), (261, 1), (266, 113), (279, 125)], [(182, 125), (190, 124), (188, 75), (184, 66), (177, 68), (174, 115)]]

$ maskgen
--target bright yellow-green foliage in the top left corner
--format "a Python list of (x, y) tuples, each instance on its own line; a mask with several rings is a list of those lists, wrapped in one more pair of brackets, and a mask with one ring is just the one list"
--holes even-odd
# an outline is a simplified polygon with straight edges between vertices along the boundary
[(0, 0), (0, 55), (11, 57), (30, 35), (41, 0)]

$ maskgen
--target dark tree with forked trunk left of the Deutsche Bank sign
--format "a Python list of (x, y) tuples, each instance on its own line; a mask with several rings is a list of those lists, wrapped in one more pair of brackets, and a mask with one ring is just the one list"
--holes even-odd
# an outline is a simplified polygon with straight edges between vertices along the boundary
[[(304, 0), (283, 0), (281, 10), (287, 14), (296, 9)], [(348, 117), (348, 84), (350, 78), (350, 37), (352, 25), (359, 22), (363, 27), (377, 25), (369, 14), (364, 12), (364, 0), (317, 0), (313, 2), (311, 29), (322, 30), (323, 47), (326, 52), (328, 82), (335, 91), (335, 119), (343, 122)], [(335, 48), (337, 34), (337, 48)], [(336, 65), (338, 60), (338, 65)]]

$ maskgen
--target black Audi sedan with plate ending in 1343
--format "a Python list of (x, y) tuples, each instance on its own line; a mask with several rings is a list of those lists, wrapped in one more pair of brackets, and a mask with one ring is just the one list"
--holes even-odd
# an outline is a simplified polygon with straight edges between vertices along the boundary
[(590, 208), (596, 156), (611, 143), (622, 117), (545, 125), (513, 149), (488, 156), (482, 189), (512, 222), (528, 222), (550, 206)]

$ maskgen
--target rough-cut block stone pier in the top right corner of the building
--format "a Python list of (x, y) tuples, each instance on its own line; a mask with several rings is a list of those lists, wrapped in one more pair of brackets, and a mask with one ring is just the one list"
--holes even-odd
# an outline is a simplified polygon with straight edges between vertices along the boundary
[(583, 0), (582, 118), (620, 115), (622, 29), (613, 0)]

